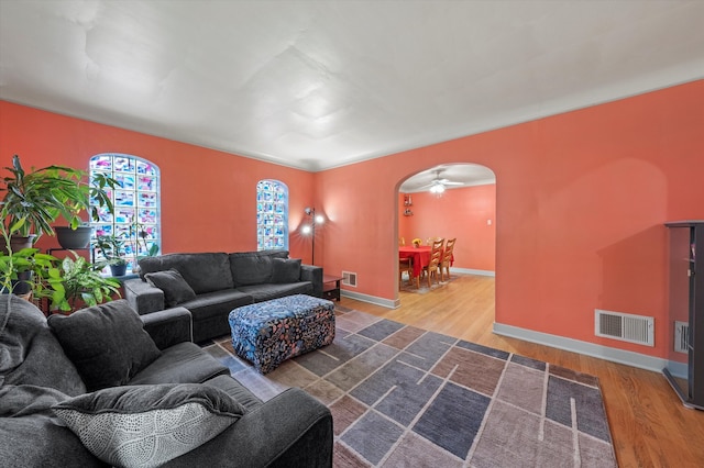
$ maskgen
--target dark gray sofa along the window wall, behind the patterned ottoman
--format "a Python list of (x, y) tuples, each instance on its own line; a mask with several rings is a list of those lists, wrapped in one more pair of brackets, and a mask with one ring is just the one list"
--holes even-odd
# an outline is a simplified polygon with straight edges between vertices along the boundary
[[(173, 270), (186, 286), (154, 277)], [(228, 315), (241, 305), (292, 294), (322, 297), (322, 268), (289, 259), (288, 250), (166, 254), (140, 259), (140, 278), (123, 287), (124, 298), (140, 315), (177, 305), (188, 309), (194, 342), (199, 343), (229, 334)], [(188, 288), (193, 292), (182, 294)]]

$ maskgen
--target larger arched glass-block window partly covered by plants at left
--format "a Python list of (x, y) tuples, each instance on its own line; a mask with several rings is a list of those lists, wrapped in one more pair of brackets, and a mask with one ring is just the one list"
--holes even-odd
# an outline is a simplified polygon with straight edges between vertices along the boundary
[[(133, 267), (138, 257), (161, 249), (158, 167), (135, 156), (103, 153), (90, 158), (90, 176), (98, 172), (112, 177), (121, 188), (108, 191), (114, 213), (99, 209), (100, 221), (91, 221), (92, 239), (114, 234), (124, 241), (121, 254), (130, 263), (129, 267)], [(99, 253), (97, 259), (101, 259)]]

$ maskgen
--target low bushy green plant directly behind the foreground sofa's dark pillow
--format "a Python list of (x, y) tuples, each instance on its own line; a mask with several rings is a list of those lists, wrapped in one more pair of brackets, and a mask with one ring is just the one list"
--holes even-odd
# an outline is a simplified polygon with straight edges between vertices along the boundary
[(56, 289), (62, 294), (57, 294), (57, 300), (52, 300), (53, 310), (72, 312), (81, 307), (109, 302), (113, 296), (121, 297), (120, 281), (100, 274), (105, 263), (91, 264), (75, 252), (70, 253), (74, 258), (68, 256), (62, 260), (55, 278), (59, 281)]

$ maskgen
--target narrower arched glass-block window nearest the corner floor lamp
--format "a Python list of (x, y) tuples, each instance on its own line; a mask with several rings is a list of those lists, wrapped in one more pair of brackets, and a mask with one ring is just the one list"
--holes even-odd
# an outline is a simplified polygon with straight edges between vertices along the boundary
[(278, 180), (256, 185), (256, 249), (288, 249), (288, 187)]

